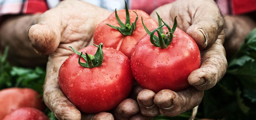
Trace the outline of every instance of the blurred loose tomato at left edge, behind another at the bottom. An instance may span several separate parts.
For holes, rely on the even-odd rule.
[[[30,88],[6,88],[0,91],[0,120],[21,107],[33,107],[43,111],[45,104],[39,94]]]

